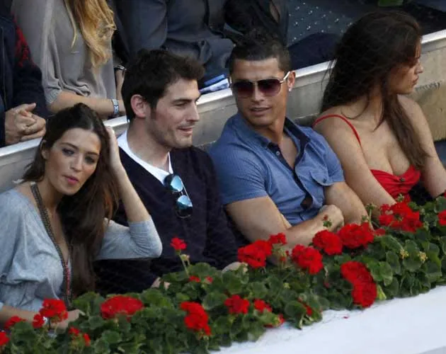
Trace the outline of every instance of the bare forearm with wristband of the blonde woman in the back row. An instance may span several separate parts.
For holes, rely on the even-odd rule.
[[[120,105],[120,113],[124,111],[122,101],[118,101]],[[93,98],[76,95],[75,93],[62,91],[53,103],[50,104],[52,113],[57,113],[64,108],[72,107],[76,103],[84,103],[98,115],[108,118],[113,115],[113,103],[110,98]]]

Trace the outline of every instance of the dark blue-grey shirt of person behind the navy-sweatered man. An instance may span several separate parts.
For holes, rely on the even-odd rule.
[[[223,38],[226,0],[113,0],[130,57],[142,48],[190,56],[207,72],[226,67],[233,43]]]

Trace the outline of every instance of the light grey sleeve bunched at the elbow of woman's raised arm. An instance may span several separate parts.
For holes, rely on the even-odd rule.
[[[96,260],[156,258],[161,251],[161,240],[151,218],[130,222],[128,227],[111,220]]]

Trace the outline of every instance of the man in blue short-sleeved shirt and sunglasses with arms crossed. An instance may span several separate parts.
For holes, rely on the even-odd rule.
[[[222,202],[249,241],[284,232],[290,246],[366,215],[321,135],[285,117],[295,83],[280,41],[251,33],[229,59],[239,113],[210,149]]]

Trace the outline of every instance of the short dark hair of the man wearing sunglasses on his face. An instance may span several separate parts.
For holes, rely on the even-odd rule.
[[[270,35],[259,28],[254,28],[247,33],[234,47],[229,57],[229,73],[234,72],[234,62],[241,60],[278,59],[280,70],[289,72],[291,67],[290,52],[282,41],[274,35]]]

